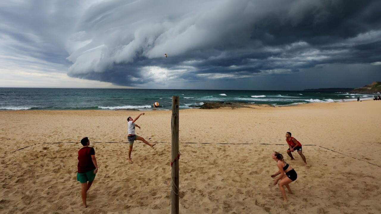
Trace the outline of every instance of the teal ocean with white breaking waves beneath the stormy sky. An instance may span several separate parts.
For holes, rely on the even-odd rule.
[[[180,89],[0,88],[0,110],[171,110],[172,96],[180,109],[204,102],[240,102],[275,106],[312,102],[373,99],[374,94],[312,91],[243,91]],[[160,107],[154,108],[154,102]]]

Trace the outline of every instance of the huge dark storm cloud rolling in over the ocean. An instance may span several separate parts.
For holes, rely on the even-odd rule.
[[[89,43],[68,57],[69,75],[139,85],[155,81],[157,68],[186,66],[176,77],[197,81],[377,62],[380,8],[358,0],[103,2],[78,22]]]

